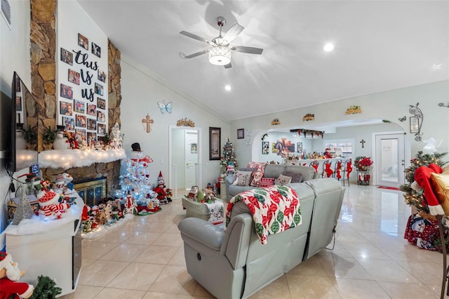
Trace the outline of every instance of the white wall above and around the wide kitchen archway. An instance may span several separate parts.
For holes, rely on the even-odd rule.
[[[300,127],[302,125],[302,117],[307,113],[315,115],[315,120],[313,122],[307,122],[308,126],[311,124],[316,124],[317,126],[331,124],[333,122],[348,119],[380,118],[396,123],[407,133],[411,145],[411,155],[412,157],[415,157],[417,151],[422,150],[424,143],[415,141],[414,134],[410,134],[408,118],[412,116],[412,114],[408,112],[408,109],[410,108],[410,105],[416,105],[416,103],[419,102],[419,107],[424,114],[422,139],[441,139],[443,140],[443,143],[441,147],[439,147],[438,152],[448,152],[449,109],[447,107],[438,107],[439,102],[448,103],[448,100],[449,81],[440,81],[409,88],[401,88],[394,91],[361,95],[354,98],[328,102],[326,104],[313,105],[310,107],[291,109],[288,111],[232,121],[231,139],[236,149],[239,163],[245,165],[248,161],[251,161],[252,157],[257,157],[258,151],[254,150],[254,147],[247,147],[243,139],[236,138],[236,130],[238,128],[253,130],[252,142],[260,142],[262,135],[266,133],[267,130],[273,128],[273,126],[271,126],[271,121],[274,118],[281,121],[281,124],[278,126],[279,128]],[[361,114],[346,115],[344,112],[351,105],[361,106],[363,112]],[[406,121],[398,121],[398,119],[404,116],[407,117]],[[362,137],[362,135],[359,137]],[[328,138],[328,135],[325,134],[325,138]],[[366,136],[363,135],[363,139],[365,138]],[[365,140],[371,140],[371,135],[369,134],[368,139]],[[370,149],[364,149],[364,151],[367,150]],[[364,151],[362,152],[360,149],[356,148],[355,156],[362,155]]]

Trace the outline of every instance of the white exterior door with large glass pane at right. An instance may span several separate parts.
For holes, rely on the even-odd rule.
[[[375,138],[376,185],[398,188],[405,181],[405,135],[379,134]]]

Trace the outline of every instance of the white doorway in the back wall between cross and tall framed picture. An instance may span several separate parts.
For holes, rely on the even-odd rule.
[[[170,126],[168,142],[168,183],[178,198],[202,178],[201,128]]]

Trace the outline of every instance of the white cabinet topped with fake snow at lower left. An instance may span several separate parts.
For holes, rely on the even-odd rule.
[[[60,295],[76,290],[81,272],[81,211],[83,202],[76,201],[71,215],[60,220],[22,220],[6,227],[6,253],[11,254],[25,275],[20,281],[37,285],[40,275],[55,280],[62,288]]]

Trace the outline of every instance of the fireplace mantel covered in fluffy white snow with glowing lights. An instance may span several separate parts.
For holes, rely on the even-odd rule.
[[[39,168],[63,168],[90,166],[126,158],[120,150],[45,150],[39,153]]]

